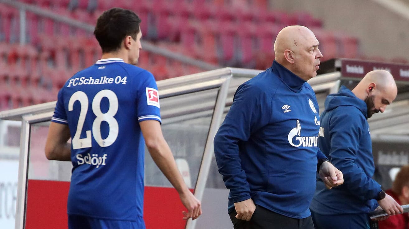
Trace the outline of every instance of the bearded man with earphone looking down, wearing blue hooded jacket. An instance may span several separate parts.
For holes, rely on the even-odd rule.
[[[374,70],[352,91],[342,86],[338,93],[326,98],[318,146],[342,171],[344,185],[328,190],[317,179],[310,205],[315,229],[369,229],[368,213],[378,206],[388,215],[403,212],[398,202],[372,179],[375,166],[367,121],[374,113],[383,113],[397,91],[391,73]]]

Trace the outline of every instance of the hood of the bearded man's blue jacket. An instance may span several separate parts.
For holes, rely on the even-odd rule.
[[[338,93],[328,95],[325,100],[326,111],[330,111],[339,106],[354,106],[368,119],[368,108],[366,107],[365,101],[356,97],[355,94],[344,85],[341,86]]]

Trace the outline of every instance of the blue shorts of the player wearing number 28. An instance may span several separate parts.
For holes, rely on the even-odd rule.
[[[68,214],[69,229],[146,229],[142,217],[135,217],[135,221],[106,220],[87,216]]]

